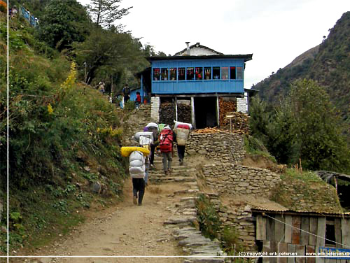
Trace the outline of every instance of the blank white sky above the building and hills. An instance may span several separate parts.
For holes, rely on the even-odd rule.
[[[253,53],[244,71],[250,88],[320,44],[350,1],[123,0],[121,6],[133,8],[117,23],[167,55],[186,48],[186,41],[225,55]]]

